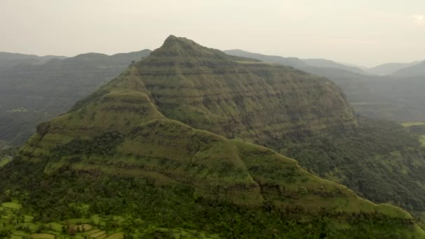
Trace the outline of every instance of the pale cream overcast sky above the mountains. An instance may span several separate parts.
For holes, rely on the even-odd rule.
[[[153,50],[173,34],[375,66],[425,59],[424,16],[425,0],[1,0],[0,51],[110,55]]]

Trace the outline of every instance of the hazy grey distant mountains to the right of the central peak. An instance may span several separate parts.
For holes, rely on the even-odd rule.
[[[244,51],[236,55],[275,64],[287,64],[279,57]],[[417,66],[417,72],[419,72],[421,65]],[[421,93],[425,85],[422,84],[424,80],[421,76],[368,75],[348,71],[345,68],[317,67],[307,64],[294,67],[336,82],[359,115],[401,122],[422,121],[425,117],[425,108],[422,103],[424,97]]]

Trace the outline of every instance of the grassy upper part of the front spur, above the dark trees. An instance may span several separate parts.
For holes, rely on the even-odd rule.
[[[52,178],[69,168],[89,175],[145,178],[157,187],[185,184],[193,189],[187,200],[267,205],[303,224],[326,213],[326,225],[338,235],[363,225],[353,219],[361,214],[382,224],[395,219],[395,234],[422,233],[407,212],[358,198],[272,150],[166,119],[135,70],[129,68],[70,113],[39,125],[22,148],[22,164],[45,164],[43,171]],[[387,231],[385,226],[368,229],[377,235]]]

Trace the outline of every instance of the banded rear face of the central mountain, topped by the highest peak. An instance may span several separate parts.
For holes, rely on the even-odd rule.
[[[233,61],[173,36],[136,66],[166,117],[227,138],[264,143],[356,126],[338,87],[294,68]]]

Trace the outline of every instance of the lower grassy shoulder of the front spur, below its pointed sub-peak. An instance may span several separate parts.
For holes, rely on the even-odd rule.
[[[190,194],[185,194],[185,200],[192,201],[195,205],[196,201],[205,201],[208,204],[231,203],[237,207],[252,208],[254,211],[273,208],[273,211],[286,215],[285,218],[304,226],[315,224],[315,220],[326,215],[329,219],[329,222],[326,221],[326,228],[332,232],[329,235],[339,238],[347,236],[347,233],[359,225],[366,226],[364,229],[368,231],[368,235],[424,235],[412,223],[412,217],[400,208],[375,205],[361,199],[347,187],[317,178],[301,169],[296,161],[273,150],[238,140],[228,140],[173,120],[154,119],[136,126],[128,136],[115,143],[116,151],[113,153],[103,154],[102,151],[89,148],[87,145],[92,144],[87,141],[81,143],[84,145],[82,150],[75,150],[78,149],[75,147],[78,140],[71,142],[71,147],[59,147],[54,150],[45,166],[49,168],[48,177],[52,177],[52,180],[58,177],[58,173],[66,174],[64,168],[69,168],[87,175],[101,173],[118,179],[143,178],[163,189],[187,185],[186,187],[192,190]],[[60,167],[51,166],[58,161],[62,164]],[[63,184],[66,180],[59,182]],[[55,187],[55,183],[48,185],[52,188],[50,190],[61,191],[66,188]],[[98,187],[105,186],[98,184]],[[68,188],[73,189],[73,186]],[[94,193],[92,190],[89,192]],[[80,197],[84,198],[86,193],[80,194]],[[33,200],[38,202],[43,200],[43,197],[45,196],[38,194],[37,199]],[[72,199],[72,194],[70,197]],[[63,200],[60,198],[62,197],[59,196],[58,202]],[[128,198],[131,201],[131,196]],[[171,196],[168,203],[175,203],[173,198],[175,196]],[[143,203],[143,199],[139,200]],[[55,203],[57,206],[60,204]],[[52,207],[51,204],[45,205]],[[158,205],[156,210],[162,210],[161,207],[164,206],[166,207]],[[199,204],[197,206],[199,207]],[[42,206],[38,203],[38,207]],[[191,209],[184,210],[189,210],[190,213]],[[366,222],[357,218],[358,215],[368,218],[366,225]],[[157,216],[151,217],[146,216],[143,219],[157,222]],[[385,226],[389,224],[392,225],[391,231]],[[207,232],[216,233],[214,228]]]

